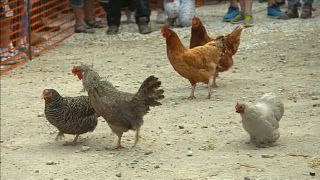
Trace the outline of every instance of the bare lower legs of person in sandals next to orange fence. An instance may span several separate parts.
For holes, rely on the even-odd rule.
[[[70,0],[75,15],[76,33],[94,33],[93,28],[103,28],[101,22],[95,20],[94,0]]]

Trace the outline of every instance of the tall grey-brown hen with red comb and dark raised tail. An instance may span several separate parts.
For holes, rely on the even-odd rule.
[[[98,73],[86,65],[75,66],[72,73],[82,80],[91,105],[106,119],[111,130],[118,136],[115,149],[122,147],[122,134],[128,130],[136,131],[135,146],[139,140],[143,116],[150,107],[160,106],[159,100],[164,98],[164,90],[159,89],[161,81],[149,76],[138,92],[132,94],[119,91],[110,82],[102,81]]]

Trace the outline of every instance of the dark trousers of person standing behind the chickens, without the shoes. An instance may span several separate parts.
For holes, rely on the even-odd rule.
[[[121,8],[134,1],[136,8],[136,23],[139,25],[143,19],[144,23],[149,23],[151,14],[151,0],[110,0],[108,3],[101,2],[101,6],[107,12],[108,26],[120,26]]]

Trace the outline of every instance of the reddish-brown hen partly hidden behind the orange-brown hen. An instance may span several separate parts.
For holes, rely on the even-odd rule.
[[[206,28],[203,26],[199,17],[195,16],[192,19],[190,48],[203,46],[209,41],[215,41],[218,44],[222,44],[222,55],[219,66],[217,68],[217,72],[227,71],[233,65],[232,56],[237,52],[239,48],[242,29],[243,28],[238,26],[226,36],[218,36],[217,38],[212,38],[208,35]]]

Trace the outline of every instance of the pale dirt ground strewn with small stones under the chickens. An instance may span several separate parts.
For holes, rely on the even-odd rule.
[[[227,6],[197,9],[212,36],[235,27],[221,22]],[[320,3],[308,20],[270,19],[265,7],[254,4],[255,26],[243,32],[234,66],[220,74],[211,100],[202,84],[197,99],[184,99],[190,85],[169,64],[156,12],[149,35],[126,23],[117,36],[106,36],[105,29],[74,35],[1,76],[1,179],[320,179]],[[190,28],[175,31],[188,45]],[[116,136],[102,118],[78,146],[62,145],[72,135],[54,141],[57,130],[43,116],[42,90],[85,94],[71,74],[82,62],[124,91],[137,91],[152,74],[162,81],[166,98],[145,116],[137,147],[131,148],[129,132],[125,148],[111,150]],[[279,95],[285,114],[276,146],[261,149],[247,143],[234,105],[266,92]]]

